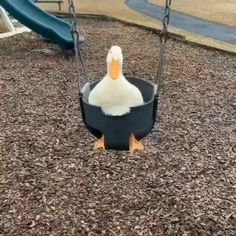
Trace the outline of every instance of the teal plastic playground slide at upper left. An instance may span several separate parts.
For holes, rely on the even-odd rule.
[[[62,49],[73,48],[71,25],[56,16],[43,11],[33,0],[0,0],[0,5],[20,23],[57,43]],[[80,37],[80,42],[84,38]]]

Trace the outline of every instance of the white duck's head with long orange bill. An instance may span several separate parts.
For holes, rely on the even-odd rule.
[[[107,54],[107,75],[116,80],[122,76],[123,55],[119,46],[112,46]]]

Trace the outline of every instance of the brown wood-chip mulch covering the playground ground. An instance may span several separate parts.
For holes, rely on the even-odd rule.
[[[83,19],[91,80],[111,45],[154,80],[158,36]],[[0,40],[0,235],[235,235],[235,56],[168,41],[145,150],[93,151],[74,57],[34,33]]]

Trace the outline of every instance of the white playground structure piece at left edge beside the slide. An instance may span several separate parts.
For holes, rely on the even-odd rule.
[[[31,30],[27,27],[15,27],[14,23],[16,20],[13,20],[9,17],[7,12],[0,6],[0,16],[3,19],[3,23],[5,24],[6,28],[8,29],[8,32],[6,33],[1,33],[0,38],[6,38],[13,36],[15,34],[20,34],[24,32],[30,32]]]

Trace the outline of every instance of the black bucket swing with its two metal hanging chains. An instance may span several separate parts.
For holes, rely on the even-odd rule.
[[[73,0],[69,0],[70,12],[74,11]],[[72,34],[74,39],[74,50],[77,63],[77,79],[79,89],[79,100],[83,122],[86,128],[98,139],[102,139],[105,149],[129,150],[130,136],[134,135],[136,140],[141,140],[151,132],[158,109],[158,98],[160,92],[161,75],[163,71],[164,47],[167,41],[167,26],[170,17],[171,0],[166,0],[163,30],[160,33],[160,54],[159,65],[156,77],[156,83],[148,82],[136,77],[125,76],[125,78],[134,84],[142,93],[144,104],[131,107],[128,114],[122,116],[110,116],[103,113],[101,107],[89,104],[88,97],[90,91],[99,81],[89,83],[83,62],[83,57],[79,44],[79,32],[76,24],[76,14],[71,12],[72,17]],[[81,63],[86,84],[81,89],[79,78],[79,63]]]

